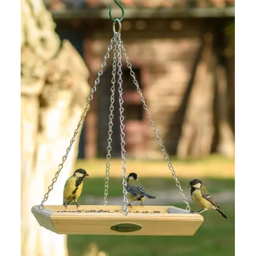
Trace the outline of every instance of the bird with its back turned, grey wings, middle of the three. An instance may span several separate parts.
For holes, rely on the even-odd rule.
[[[141,185],[141,182],[138,180],[138,175],[134,172],[130,173],[127,178],[127,198],[131,201],[128,206],[132,207],[132,202],[141,201],[141,206],[146,198],[155,199],[154,196],[146,194],[144,187]]]

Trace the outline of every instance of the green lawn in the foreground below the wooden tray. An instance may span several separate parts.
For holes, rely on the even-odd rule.
[[[225,205],[230,220],[217,212],[204,214],[205,221],[193,237],[69,236],[71,256],[82,256],[90,243],[110,256],[234,256],[235,206]]]

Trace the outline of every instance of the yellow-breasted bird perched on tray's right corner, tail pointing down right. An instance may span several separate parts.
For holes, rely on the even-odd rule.
[[[216,201],[212,198],[207,188],[203,186],[202,181],[194,179],[190,181],[190,185],[188,187],[191,188],[191,198],[194,201],[194,203],[197,204],[199,207],[203,208],[197,213],[202,213],[207,210],[216,210],[221,213],[223,218],[228,219],[225,213],[221,211],[221,208],[218,206]]]

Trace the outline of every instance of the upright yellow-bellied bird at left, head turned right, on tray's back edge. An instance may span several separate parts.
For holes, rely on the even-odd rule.
[[[83,181],[86,176],[89,176],[84,169],[77,169],[74,174],[66,180],[63,191],[63,205],[67,208],[68,205],[75,202],[76,207],[79,207],[77,199],[82,193]]]

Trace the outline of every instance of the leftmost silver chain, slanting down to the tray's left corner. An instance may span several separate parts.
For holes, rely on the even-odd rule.
[[[81,118],[80,118],[80,121],[79,121],[79,123],[78,123],[78,125],[77,125],[77,128],[75,129],[74,136],[73,136],[73,138],[72,138],[71,141],[70,141],[70,145],[69,145],[68,148],[66,149],[66,154],[62,157],[62,163],[61,163],[61,164],[59,165],[59,167],[58,167],[58,171],[56,172],[55,177],[53,178],[52,184],[49,185],[49,187],[48,187],[48,192],[44,195],[44,199],[43,199],[42,203],[39,205],[39,209],[40,209],[40,210],[43,210],[43,209],[44,209],[44,203],[47,201],[47,199],[48,199],[48,197],[49,197],[49,193],[53,190],[53,185],[54,185],[54,183],[57,181],[57,178],[58,178],[58,176],[59,176],[59,174],[60,174],[60,172],[61,172],[61,170],[62,170],[62,168],[63,168],[63,166],[64,166],[64,163],[66,162],[66,159],[67,159],[68,154],[69,154],[69,152],[70,152],[70,150],[71,150],[71,148],[72,148],[72,145],[73,145],[73,143],[75,142],[75,137],[76,137],[76,135],[77,135],[78,132],[79,132],[79,128],[80,128],[80,126],[83,124],[83,120],[84,120],[84,118],[85,118],[85,116],[86,116],[86,113],[87,113],[89,107],[90,107],[90,103],[91,103],[91,101],[93,100],[93,94],[96,92],[96,90],[97,90],[97,85],[100,83],[100,77],[101,77],[102,74],[103,74],[103,69],[106,67],[106,62],[107,62],[107,60],[108,60],[108,58],[109,58],[109,56],[110,56],[110,51],[113,49],[114,41],[115,41],[115,38],[113,37],[113,38],[111,39],[110,46],[109,46],[108,49],[107,49],[107,53],[106,53],[106,55],[105,55],[105,57],[104,57],[104,62],[102,63],[101,70],[99,71],[98,77],[97,77],[97,79],[95,80],[94,87],[92,88],[91,94],[90,94],[90,96],[88,97],[88,103],[87,103],[87,105],[85,106],[84,112],[83,112],[83,114],[81,115]]]

